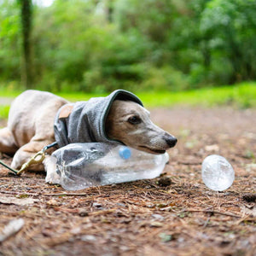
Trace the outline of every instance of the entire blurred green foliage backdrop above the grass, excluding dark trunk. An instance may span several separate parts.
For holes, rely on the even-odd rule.
[[[255,80],[255,17],[254,0],[55,0],[47,8],[35,5],[34,88],[178,91]],[[18,1],[0,1],[0,27],[0,82],[20,90]]]

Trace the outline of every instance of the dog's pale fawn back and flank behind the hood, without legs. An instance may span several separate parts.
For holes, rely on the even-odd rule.
[[[55,114],[67,101],[52,93],[26,90],[15,98],[9,110],[8,129],[18,148],[38,138],[53,137]]]

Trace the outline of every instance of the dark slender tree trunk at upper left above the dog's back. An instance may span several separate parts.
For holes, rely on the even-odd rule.
[[[32,0],[19,0],[21,16],[21,36],[22,36],[22,70],[21,80],[26,89],[32,87]]]

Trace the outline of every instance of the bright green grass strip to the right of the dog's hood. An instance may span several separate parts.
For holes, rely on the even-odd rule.
[[[137,94],[145,106],[172,107],[201,106],[233,106],[235,108],[256,108],[256,83],[243,83],[232,86],[204,88],[181,92],[147,92]]]

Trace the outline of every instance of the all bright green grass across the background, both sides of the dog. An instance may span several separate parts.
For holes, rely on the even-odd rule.
[[[14,98],[19,91],[0,90],[0,97]],[[93,96],[107,96],[107,94],[85,93],[59,93],[71,102],[87,101]],[[188,106],[209,108],[214,106],[232,106],[235,108],[256,108],[256,82],[235,84],[232,86],[212,87],[189,91],[157,91],[140,92],[141,98],[147,108]],[[0,119],[8,117],[9,106],[0,103]]]

